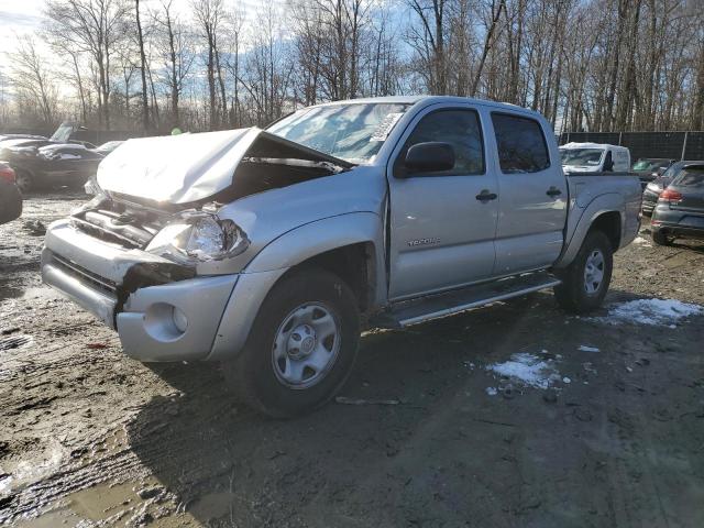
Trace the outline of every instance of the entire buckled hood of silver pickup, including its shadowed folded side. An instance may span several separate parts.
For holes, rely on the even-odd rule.
[[[238,170],[241,164],[250,165],[249,170]],[[231,200],[352,167],[352,163],[251,128],[129,140],[100,163],[98,184],[111,193],[185,205],[226,189]]]

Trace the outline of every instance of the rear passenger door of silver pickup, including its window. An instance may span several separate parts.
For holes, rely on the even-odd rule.
[[[494,275],[550,266],[560,255],[568,188],[557,150],[551,153],[544,120],[492,112],[498,155],[499,213]]]

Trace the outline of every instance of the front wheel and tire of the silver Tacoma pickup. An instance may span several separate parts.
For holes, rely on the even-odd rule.
[[[360,314],[349,286],[323,270],[295,272],[272,288],[244,349],[223,372],[250,407],[274,418],[300,416],[342,387],[359,341]]]

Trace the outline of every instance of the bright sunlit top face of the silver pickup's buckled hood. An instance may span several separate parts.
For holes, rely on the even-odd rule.
[[[251,128],[129,140],[100,163],[98,185],[157,202],[202,200],[232,183],[261,133]]]

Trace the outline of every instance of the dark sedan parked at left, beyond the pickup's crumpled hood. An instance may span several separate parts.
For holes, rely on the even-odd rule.
[[[29,190],[67,186],[81,188],[98,170],[103,154],[81,144],[51,144],[11,148],[8,162],[16,173],[18,187]]]

